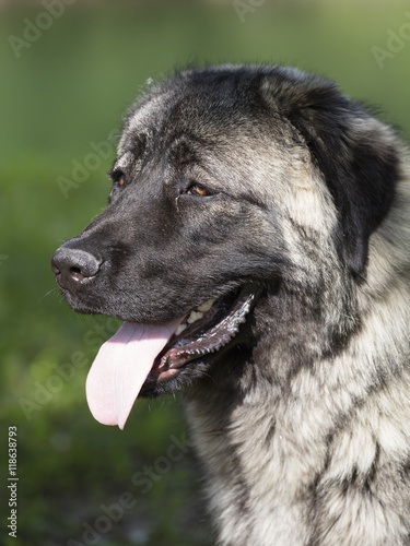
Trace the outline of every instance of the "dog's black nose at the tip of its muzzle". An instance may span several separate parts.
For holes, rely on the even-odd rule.
[[[77,248],[60,247],[51,260],[51,270],[62,288],[75,289],[84,281],[95,276],[102,260]]]

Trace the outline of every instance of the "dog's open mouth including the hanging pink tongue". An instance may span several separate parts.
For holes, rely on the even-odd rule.
[[[175,378],[188,363],[206,359],[236,340],[261,288],[245,285],[210,299],[165,324],[124,322],[99,348],[86,379],[93,416],[124,428],[142,388]]]

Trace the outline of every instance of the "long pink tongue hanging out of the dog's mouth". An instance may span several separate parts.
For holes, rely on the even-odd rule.
[[[86,378],[86,400],[103,425],[124,428],[156,355],[181,319],[162,325],[124,322],[98,351]]]

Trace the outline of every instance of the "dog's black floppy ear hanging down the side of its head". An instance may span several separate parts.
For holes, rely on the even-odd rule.
[[[395,135],[328,80],[284,75],[272,90],[277,107],[325,177],[338,211],[338,253],[353,275],[362,276],[368,238],[386,216],[398,179]]]

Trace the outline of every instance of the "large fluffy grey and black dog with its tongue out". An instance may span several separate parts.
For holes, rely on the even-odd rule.
[[[125,322],[94,417],[184,391],[223,546],[410,545],[410,169],[325,78],[190,68],[130,108],[108,206],[52,259]]]

